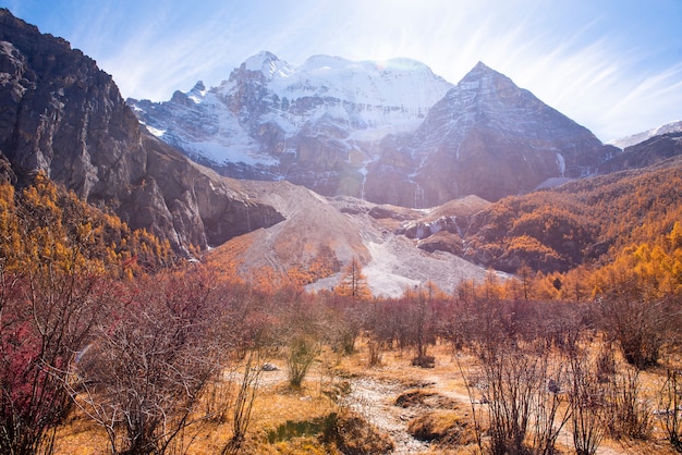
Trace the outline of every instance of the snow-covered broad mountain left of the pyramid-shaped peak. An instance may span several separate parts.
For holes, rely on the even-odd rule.
[[[314,56],[292,65],[264,51],[218,87],[199,82],[168,102],[131,104],[147,128],[195,159],[267,167],[268,179],[289,179],[291,167],[273,163],[296,157],[329,164],[352,150],[361,162],[372,160],[361,143],[414,131],[451,87],[410,59]],[[310,134],[324,137],[321,144],[313,148]]]

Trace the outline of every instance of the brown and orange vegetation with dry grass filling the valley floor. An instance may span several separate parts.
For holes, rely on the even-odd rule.
[[[0,195],[3,452],[679,450],[674,218],[590,267],[521,265],[454,295],[429,282],[391,299],[368,294],[355,261],[317,294],[299,272],[264,270],[255,286],[171,269],[168,245],[40,175]],[[519,242],[540,242],[537,220],[555,230],[538,213],[512,223]],[[391,425],[365,408],[377,390]]]

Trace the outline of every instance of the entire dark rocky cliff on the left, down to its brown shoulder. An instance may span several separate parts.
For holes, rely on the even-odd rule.
[[[8,179],[42,171],[179,250],[283,218],[236,182],[139,130],[111,77],[63,39],[0,10],[0,153]],[[245,221],[247,220],[247,221]]]

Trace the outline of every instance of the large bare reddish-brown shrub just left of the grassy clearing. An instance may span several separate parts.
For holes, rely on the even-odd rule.
[[[204,386],[221,367],[209,343],[208,278],[196,273],[136,283],[74,372],[83,384],[74,398],[113,454],[165,453],[202,414]]]

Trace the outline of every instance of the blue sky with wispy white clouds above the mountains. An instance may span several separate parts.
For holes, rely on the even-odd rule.
[[[419,60],[456,84],[477,61],[602,142],[682,119],[682,0],[0,0],[65,38],[124,97],[211,87],[269,50]]]

